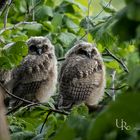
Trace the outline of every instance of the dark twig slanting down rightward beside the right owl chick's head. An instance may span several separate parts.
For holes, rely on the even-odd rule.
[[[113,53],[111,53],[107,48],[105,48],[105,50],[107,53],[102,54],[103,56],[111,56],[123,67],[125,72],[129,73],[127,66],[125,65],[125,63],[121,59],[117,58],[117,56],[115,56]]]

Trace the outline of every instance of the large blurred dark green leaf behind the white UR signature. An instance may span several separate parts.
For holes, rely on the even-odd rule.
[[[134,131],[134,128],[140,124],[139,100],[139,93],[121,94],[115,102],[112,102],[106,110],[92,121],[87,140],[105,139],[106,135],[112,131],[119,131],[123,134],[125,134],[126,131],[127,133]],[[125,128],[124,131],[121,130],[120,123],[122,119],[126,122],[127,126],[129,126],[130,130],[126,130]],[[119,121],[119,128],[116,125],[116,120]],[[116,134],[114,134],[114,137],[115,135]]]

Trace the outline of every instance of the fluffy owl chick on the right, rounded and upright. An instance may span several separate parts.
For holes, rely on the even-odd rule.
[[[105,67],[102,57],[91,43],[81,42],[71,48],[59,75],[58,108],[71,108],[85,102],[97,105],[104,95]]]

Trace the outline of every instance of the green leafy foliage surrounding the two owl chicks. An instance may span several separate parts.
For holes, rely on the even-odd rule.
[[[27,54],[26,40],[41,35],[55,45],[58,60],[80,40],[96,42],[107,71],[102,110],[89,113],[82,104],[69,115],[52,111],[41,131],[50,108],[54,109],[54,97],[46,105],[20,108],[8,115],[11,138],[140,139],[139,0],[13,0],[6,5],[0,11],[1,69],[19,65]],[[129,130],[121,127],[122,120]]]

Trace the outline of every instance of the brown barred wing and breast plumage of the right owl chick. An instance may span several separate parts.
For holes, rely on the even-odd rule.
[[[102,78],[102,62],[99,60],[71,59],[65,61],[61,68],[60,106],[69,106],[86,100]]]

